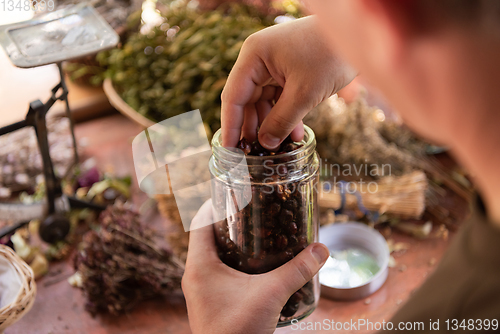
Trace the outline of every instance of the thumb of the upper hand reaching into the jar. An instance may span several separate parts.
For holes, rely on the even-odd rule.
[[[304,116],[321,102],[316,100],[315,94],[311,94],[307,88],[287,82],[278,101],[262,121],[260,144],[268,150],[277,148]]]

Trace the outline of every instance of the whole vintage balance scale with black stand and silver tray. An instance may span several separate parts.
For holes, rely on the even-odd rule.
[[[0,218],[16,222],[0,230],[0,238],[26,225],[32,219],[43,218],[39,234],[42,240],[53,243],[66,237],[70,229],[64,212],[71,208],[104,207],[64,195],[61,182],[54,173],[47,138],[46,115],[56,101],[64,101],[70,120],[74,159],[78,163],[73,121],[68,103],[68,88],[61,63],[65,60],[95,54],[113,48],[119,37],[109,24],[87,4],[67,7],[40,15],[29,21],[0,26],[0,45],[11,62],[21,68],[57,64],[60,82],[52,88],[47,102],[30,103],[24,120],[0,128],[0,136],[25,127],[33,127],[42,156],[46,201],[34,204],[0,203]]]

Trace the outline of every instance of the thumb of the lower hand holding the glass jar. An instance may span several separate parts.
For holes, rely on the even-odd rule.
[[[268,286],[271,293],[283,303],[297,290],[309,282],[330,256],[328,248],[320,243],[309,245],[295,258],[281,267],[269,272],[266,280],[272,282]]]

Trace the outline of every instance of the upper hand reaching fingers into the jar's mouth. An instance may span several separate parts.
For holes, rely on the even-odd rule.
[[[222,92],[222,143],[257,137],[275,149],[291,133],[300,141],[302,118],[335,94],[356,72],[333,55],[315,17],[282,23],[243,44]]]

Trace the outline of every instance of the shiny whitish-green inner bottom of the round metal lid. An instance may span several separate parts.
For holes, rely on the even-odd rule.
[[[377,260],[364,249],[331,251],[319,281],[332,288],[355,288],[370,281],[379,270]]]

